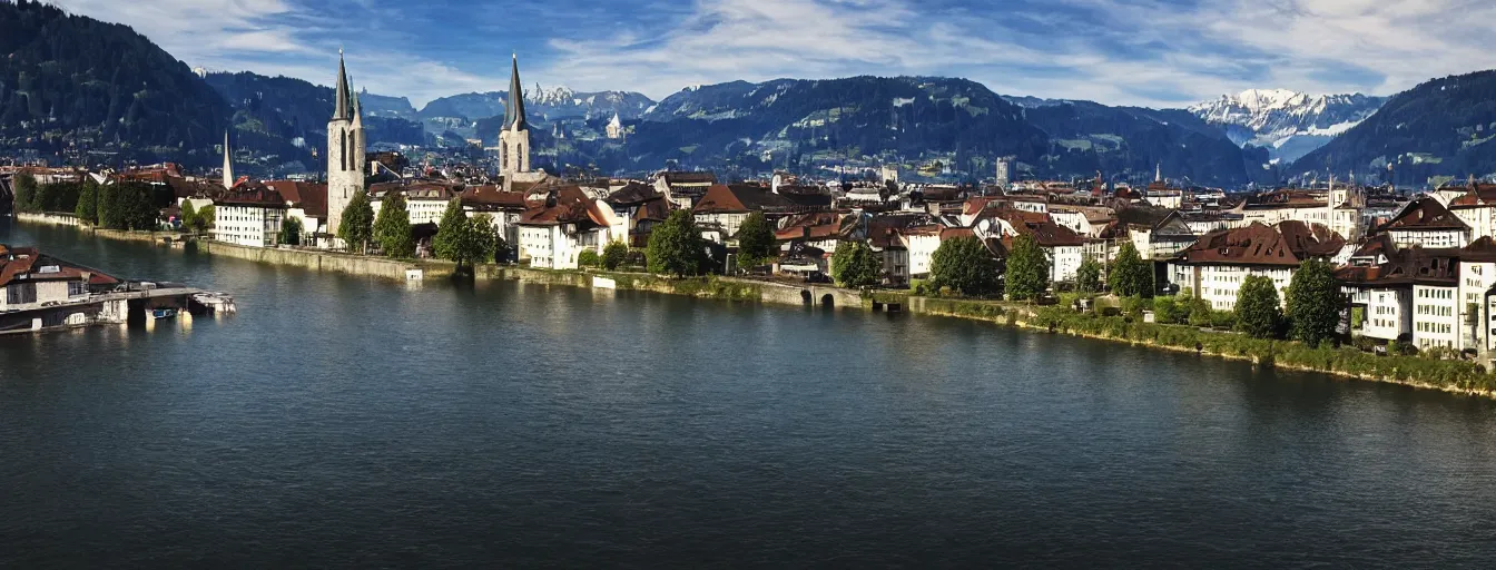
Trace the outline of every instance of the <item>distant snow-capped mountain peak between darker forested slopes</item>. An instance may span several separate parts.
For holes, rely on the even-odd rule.
[[[1269,157],[1287,165],[1360,124],[1385,102],[1387,97],[1360,93],[1310,96],[1290,90],[1246,90],[1194,105],[1189,112],[1225,127],[1236,144],[1267,148]]]

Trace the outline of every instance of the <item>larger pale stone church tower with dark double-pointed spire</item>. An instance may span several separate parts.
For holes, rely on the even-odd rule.
[[[349,72],[338,49],[338,85],[328,121],[328,235],[338,235],[343,209],[364,191],[368,162],[364,159],[364,117],[359,99],[349,88]]]

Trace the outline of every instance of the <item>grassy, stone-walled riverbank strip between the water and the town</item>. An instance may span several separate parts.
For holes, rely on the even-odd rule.
[[[97,230],[66,217],[21,214],[19,221],[73,226],[100,238],[153,244],[183,244],[183,250],[244,259],[257,263],[298,266],[347,275],[390,280],[441,280],[455,274],[455,265],[443,260],[393,260],[371,256],[299,248],[256,248],[217,241],[193,241],[178,233]],[[1194,352],[1201,356],[1249,361],[1263,367],[1330,374],[1342,379],[1396,383],[1451,393],[1496,398],[1496,376],[1471,362],[1435,361],[1418,356],[1376,356],[1357,349],[1310,349],[1291,341],[1254,340],[1219,331],[1204,331],[1183,325],[1132,322],[1122,316],[1076,313],[1058,307],[914,296],[904,292],[863,293],[824,284],[790,284],[732,277],[700,277],[672,280],[649,274],[607,271],[552,271],[513,265],[483,265],[474,271],[477,280],[513,280],[536,284],[557,284],[582,289],[642,290],[730,302],[760,302],[775,305],[809,305],[824,310],[881,310],[926,316],[972,319],[1031,331],[1065,334],[1092,340],[1128,343],[1171,352]]]

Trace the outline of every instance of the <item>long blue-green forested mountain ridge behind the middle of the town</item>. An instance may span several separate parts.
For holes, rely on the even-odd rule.
[[[1228,186],[1260,180],[1267,160],[1185,111],[1004,97],[953,78],[871,76],[691,87],[645,114],[628,153],[700,166],[787,154],[773,159],[782,166],[844,153],[939,160],[974,177],[1001,156],[1035,177],[1101,171],[1150,180],[1162,163],[1170,177]]]

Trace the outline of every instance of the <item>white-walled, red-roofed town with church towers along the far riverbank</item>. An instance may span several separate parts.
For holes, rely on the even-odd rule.
[[[838,272],[838,250],[865,247],[872,277],[851,284],[917,292],[925,292],[947,241],[975,238],[998,272],[1022,241],[1044,253],[1043,298],[1076,290],[1088,263],[1113,266],[1134,250],[1152,277],[1150,290],[1140,295],[1191,295],[1213,311],[1234,310],[1254,275],[1270,278],[1287,299],[1299,268],[1321,260],[1336,268],[1348,299],[1343,328],[1352,337],[1483,361],[1496,352],[1496,184],[1471,178],[1406,196],[1328,177],[1313,187],[1227,194],[1179,187],[1161,168],[1146,187],[1115,186],[1100,174],[1088,181],[1011,181],[1001,162],[981,186],[901,183],[895,168],[829,181],[787,172],[726,181],[712,172],[670,171],[643,180],[561,178],[531,168],[530,123],[524,100],[513,96],[522,93],[519,81],[516,58],[509,90],[515,112],[488,150],[498,172],[367,153],[359,94],[340,64],[322,181],[235,177],[224,138],[223,168],[212,175],[194,177],[171,163],[123,172],[13,166],[0,172],[0,196],[16,194],[18,209],[72,211],[82,200],[76,191],[70,203],[27,208],[19,180],[93,186],[99,203],[118,189],[148,187],[148,196],[160,196],[157,209],[123,229],[196,224],[211,239],[242,247],[368,254],[399,253],[381,251],[367,236],[349,244],[341,226],[350,205],[367,203],[373,218],[399,202],[414,245],[404,254],[414,257],[440,254],[434,241],[455,209],[495,238],[495,253],[486,256],[492,259],[476,262],[542,269],[594,265],[609,245],[627,247],[637,259],[658,226],[685,215],[711,251],[714,272],[826,280]],[[747,226],[757,220],[769,224],[772,254],[739,263]]]

